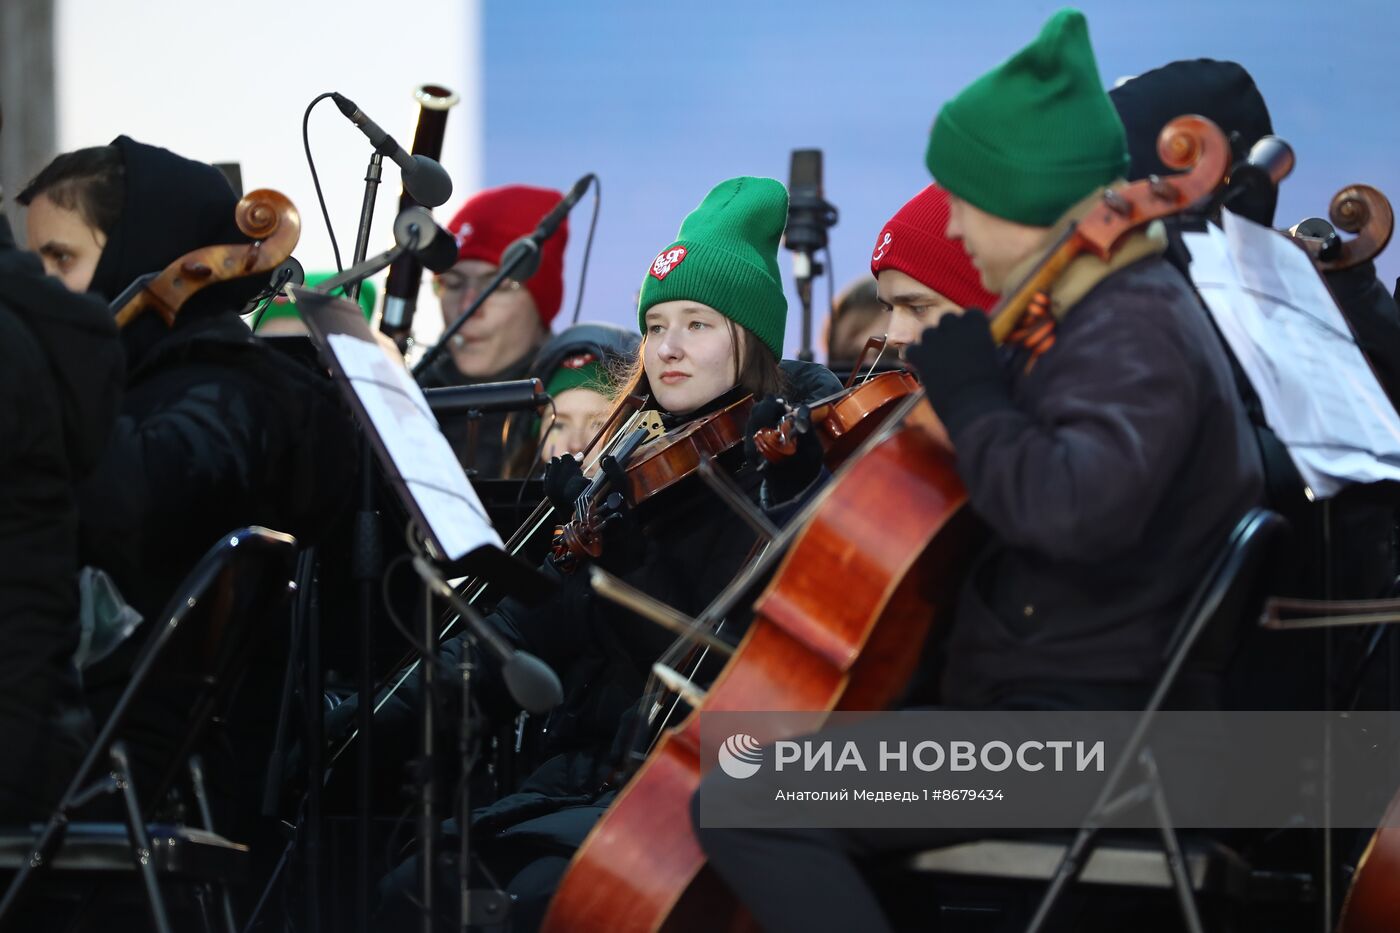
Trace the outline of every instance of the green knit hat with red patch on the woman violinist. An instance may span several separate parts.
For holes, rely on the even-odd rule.
[[[787,189],[780,182],[741,175],[715,185],[641,280],[637,326],[647,332],[647,308],[654,304],[699,301],[748,328],[781,359],[787,296],[778,277],[778,241],[784,226]]]

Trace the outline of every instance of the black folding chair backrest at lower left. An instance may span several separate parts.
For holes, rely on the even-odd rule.
[[[108,738],[129,737],[144,778],[146,803],[183,776],[186,758],[237,686],[244,667],[284,619],[297,541],[266,528],[220,538],[154,619],[122,698],[104,724]],[[111,733],[108,735],[108,733]]]

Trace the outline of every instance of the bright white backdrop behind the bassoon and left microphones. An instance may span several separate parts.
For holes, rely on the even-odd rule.
[[[244,191],[276,188],[301,210],[302,265],[333,269],[301,144],[307,104],[340,91],[409,148],[413,90],[456,91],[442,147],[454,195],[435,212],[445,221],[480,186],[480,20],[479,0],[57,0],[59,150],[126,133],[190,158],[241,163]],[[328,99],[311,115],[311,151],[349,265],[370,146]],[[386,160],[371,255],[392,242],[399,192]],[[430,294],[419,308],[423,340],[441,324]]]

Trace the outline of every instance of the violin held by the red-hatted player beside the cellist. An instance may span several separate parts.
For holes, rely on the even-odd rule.
[[[861,359],[869,350],[883,350],[885,338],[871,338]],[[858,368],[858,367],[857,367]],[[918,391],[918,378],[907,370],[878,373],[855,384],[855,371],[840,392],[829,395],[806,410],[794,409],[777,426],[763,427],[753,434],[753,445],[770,464],[797,452],[797,436],[816,431],[822,441],[823,459],[837,469],[879,427],[895,405]]]

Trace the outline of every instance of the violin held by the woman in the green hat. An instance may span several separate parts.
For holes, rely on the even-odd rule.
[[[598,474],[578,497],[574,517],[554,537],[556,563],[568,570],[580,558],[602,555],[602,528],[617,514],[623,502],[610,504],[605,496],[619,496],[629,506],[640,506],[657,493],[671,489],[700,469],[701,462],[714,459],[743,443],[753,396],[746,395],[713,415],[647,440],[624,438],[613,457],[623,464],[627,486],[610,490],[605,474]],[[634,436],[636,437],[636,436]],[[598,509],[602,504],[605,509]]]

